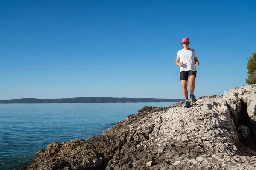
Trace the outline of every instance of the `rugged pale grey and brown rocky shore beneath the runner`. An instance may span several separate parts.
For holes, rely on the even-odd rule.
[[[100,136],[53,142],[23,170],[256,169],[256,85],[183,105],[143,107]]]

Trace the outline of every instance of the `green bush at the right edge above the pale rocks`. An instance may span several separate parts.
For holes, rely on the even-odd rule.
[[[256,50],[252,53],[252,56],[249,57],[248,63],[247,63],[247,69],[248,69],[248,78],[246,79],[246,83],[256,84]]]

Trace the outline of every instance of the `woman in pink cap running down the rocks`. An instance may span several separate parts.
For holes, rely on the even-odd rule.
[[[176,57],[175,64],[180,66],[180,82],[182,85],[183,95],[185,97],[185,108],[189,108],[189,97],[188,97],[188,79],[190,88],[190,98],[192,102],[195,102],[195,77],[196,77],[196,66],[199,65],[198,59],[194,49],[189,48],[189,38],[185,37],[181,40],[182,50],[179,50]]]

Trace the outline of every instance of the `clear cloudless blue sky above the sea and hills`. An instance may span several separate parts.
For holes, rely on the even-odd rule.
[[[247,85],[255,0],[0,0],[0,99],[183,99],[181,39],[195,95]]]

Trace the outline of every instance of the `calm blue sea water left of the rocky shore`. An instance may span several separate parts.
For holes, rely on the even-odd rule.
[[[101,135],[143,106],[171,104],[0,104],[0,170],[24,166],[52,142]]]

